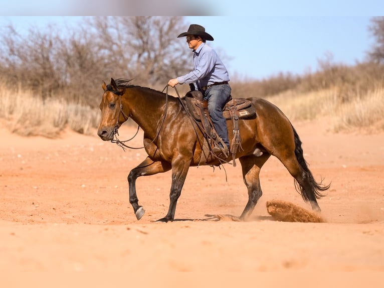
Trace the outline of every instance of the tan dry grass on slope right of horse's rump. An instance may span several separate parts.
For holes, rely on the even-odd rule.
[[[313,120],[320,117],[334,119],[333,131],[384,131],[384,88],[364,95],[339,88],[308,93],[285,92],[267,98],[291,120]]]

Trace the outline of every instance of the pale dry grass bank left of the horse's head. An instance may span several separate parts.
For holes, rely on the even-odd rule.
[[[100,118],[100,112],[88,106],[5,87],[0,87],[0,104],[0,118],[10,131],[24,136],[56,137],[66,127],[89,134]]]

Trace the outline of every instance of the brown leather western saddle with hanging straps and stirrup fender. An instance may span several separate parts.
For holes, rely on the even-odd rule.
[[[208,112],[208,101],[203,100],[203,94],[200,91],[189,91],[185,97],[186,107],[195,121],[201,122],[199,125],[204,131],[204,147],[200,164],[208,162],[207,152],[212,151],[212,147],[220,142],[225,147],[222,139],[217,134],[211,116]],[[235,156],[240,146],[239,119],[256,117],[256,109],[251,101],[244,98],[236,98],[228,101],[223,108],[223,116],[226,120],[233,120],[233,138],[230,143],[230,152],[232,154],[233,166],[236,167]],[[208,145],[208,142],[210,144]],[[223,152],[224,153],[224,152]],[[204,156],[204,157],[203,157]]]

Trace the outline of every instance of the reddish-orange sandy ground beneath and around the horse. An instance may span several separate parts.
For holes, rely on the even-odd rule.
[[[248,195],[239,165],[190,168],[171,223],[152,222],[167,212],[170,172],[139,178],[146,212],[137,221],[126,178],[145,158],[143,150],[124,152],[69,131],[47,139],[0,128],[0,286],[127,286],[135,280],[151,287],[287,286],[290,279],[316,286],[346,271],[353,273],[333,283],[381,286],[384,133],[334,134],[321,121],[293,124],[315,178],[332,182],[319,200],[326,223],[278,222],[267,213],[266,201],[273,199],[310,209],[275,158],[262,170],[264,194],[250,221],[205,216],[241,214]],[[122,127],[120,139],[134,131]],[[141,145],[139,134],[132,146]],[[283,277],[255,276],[261,271]]]

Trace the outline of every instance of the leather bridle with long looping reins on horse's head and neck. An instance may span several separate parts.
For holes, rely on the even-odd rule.
[[[167,114],[167,110],[168,110],[168,85],[166,85],[164,87],[164,89],[161,91],[161,92],[164,92],[164,90],[166,89],[166,93],[165,93],[165,111],[164,111],[164,116],[163,116],[163,119],[161,121],[161,124],[160,126],[157,128],[157,132],[156,132],[156,136],[153,138],[153,140],[148,143],[147,145],[144,145],[143,147],[131,147],[131,146],[128,146],[126,145],[125,143],[126,142],[129,142],[131,141],[134,137],[136,137],[137,133],[139,132],[139,129],[140,129],[140,126],[137,125],[137,130],[136,130],[136,133],[131,137],[129,138],[128,140],[124,140],[124,141],[121,141],[117,136],[119,135],[119,119],[120,119],[120,116],[123,115],[124,117],[124,122],[126,120],[129,119],[129,115],[125,114],[124,111],[123,111],[123,104],[121,102],[121,96],[124,94],[122,91],[115,91],[115,90],[111,90],[111,89],[106,89],[104,92],[106,92],[107,90],[118,95],[119,96],[119,107],[120,107],[120,111],[119,111],[119,116],[117,117],[117,120],[116,120],[116,124],[115,124],[115,127],[113,128],[113,139],[111,140],[111,143],[116,143],[117,146],[121,147],[124,151],[126,148],[129,148],[129,149],[143,149],[143,148],[146,148],[147,146],[151,145],[158,137],[159,133],[160,133],[160,130],[161,130],[161,127],[165,121],[165,117],[166,117],[166,114]]]

